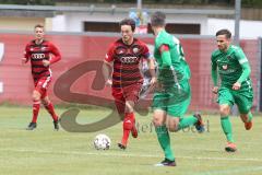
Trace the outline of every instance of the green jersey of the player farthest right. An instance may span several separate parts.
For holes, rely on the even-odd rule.
[[[213,51],[211,61],[212,78],[215,85],[217,85],[217,82],[213,72],[215,74],[218,72],[223,86],[231,88],[236,82],[242,83],[242,85],[250,84],[249,62],[240,47],[230,45],[226,52],[217,49]]]

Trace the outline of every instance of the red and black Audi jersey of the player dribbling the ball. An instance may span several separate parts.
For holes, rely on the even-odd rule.
[[[140,62],[148,57],[148,47],[136,38],[131,45],[126,45],[122,38],[112,43],[105,58],[107,62],[114,61],[112,88],[143,83]]]

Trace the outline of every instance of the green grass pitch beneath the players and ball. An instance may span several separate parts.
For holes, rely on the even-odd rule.
[[[0,107],[0,174],[2,175],[261,175],[262,118],[254,117],[251,131],[246,131],[238,117],[231,117],[236,153],[224,151],[225,137],[219,116],[204,115],[209,132],[193,131],[171,133],[177,167],[154,167],[163,160],[163,152],[151,128],[150,116],[136,116],[140,124],[138,139],[130,138],[126,151],[117,148],[121,138],[121,124],[93,133],[53,131],[49,115],[41,108],[38,127],[25,130],[31,120],[29,107]],[[66,108],[57,110],[58,114]],[[109,112],[81,109],[81,122],[97,120]],[[147,126],[147,128],[146,128]],[[142,129],[143,127],[143,129]],[[93,139],[106,133],[111,148],[97,151]]]

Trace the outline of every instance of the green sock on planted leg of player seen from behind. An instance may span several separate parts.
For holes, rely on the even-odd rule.
[[[174,161],[175,156],[170,148],[170,138],[166,126],[155,127],[158,142],[165,153],[165,158]]]

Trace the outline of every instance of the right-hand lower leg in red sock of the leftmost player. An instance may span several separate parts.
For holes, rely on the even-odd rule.
[[[46,110],[50,114],[50,116],[52,117],[53,120],[53,128],[56,130],[59,130],[59,117],[55,112],[55,107],[51,103],[51,101],[49,100],[49,97],[47,96],[47,92],[45,92],[41,96],[41,104],[45,106]]]

